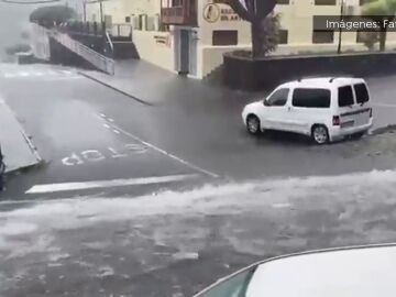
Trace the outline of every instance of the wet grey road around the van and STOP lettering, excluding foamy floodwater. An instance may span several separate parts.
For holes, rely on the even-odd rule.
[[[369,80],[376,128],[395,122],[396,103],[389,96],[396,91],[394,80]],[[41,198],[109,195],[109,190],[136,196],[169,184],[155,178],[176,176],[176,182],[186,178],[182,184],[190,186],[219,178],[387,169],[396,161],[393,142],[378,144],[377,136],[323,147],[284,133],[252,138],[240,116],[250,97],[240,92],[216,91],[213,98],[201,100],[170,98],[150,107],[74,70],[37,65],[2,67],[0,86],[47,162],[40,170],[9,182],[8,196],[19,198],[26,191]],[[91,188],[94,182],[100,187]],[[81,190],[85,186],[87,193]],[[64,193],[65,188],[69,190]]]

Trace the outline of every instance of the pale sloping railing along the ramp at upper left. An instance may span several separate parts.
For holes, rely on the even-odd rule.
[[[69,37],[65,33],[53,30],[51,31],[51,36],[72,52],[88,61],[96,68],[107,74],[114,75],[114,61],[112,58],[97,53],[82,43]]]

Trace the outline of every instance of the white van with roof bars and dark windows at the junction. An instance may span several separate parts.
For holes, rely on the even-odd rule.
[[[308,78],[278,86],[266,99],[248,105],[242,118],[252,134],[289,131],[324,144],[361,138],[373,125],[373,109],[362,78]]]

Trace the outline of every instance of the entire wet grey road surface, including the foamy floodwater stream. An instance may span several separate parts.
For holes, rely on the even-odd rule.
[[[191,296],[263,257],[396,240],[392,129],[252,138],[244,94],[150,107],[37,67],[0,69],[46,161],[1,196],[0,296]],[[395,122],[393,81],[370,80],[376,128]]]

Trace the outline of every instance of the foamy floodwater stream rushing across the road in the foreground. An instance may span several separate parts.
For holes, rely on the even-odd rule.
[[[0,212],[0,296],[191,296],[254,261],[396,241],[396,173],[75,198]]]

